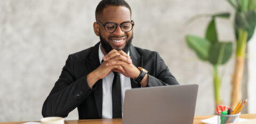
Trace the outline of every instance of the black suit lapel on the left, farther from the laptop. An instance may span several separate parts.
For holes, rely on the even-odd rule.
[[[91,50],[89,58],[87,59],[87,67],[89,68],[90,72],[95,70],[100,66],[100,60],[99,60],[99,45],[100,42],[98,42]],[[95,84],[95,90],[93,91],[95,103],[97,106],[99,118],[102,118],[102,79],[100,79]]]

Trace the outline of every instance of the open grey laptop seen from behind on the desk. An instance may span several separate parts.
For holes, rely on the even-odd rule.
[[[193,123],[197,90],[198,84],[127,90],[122,123]]]

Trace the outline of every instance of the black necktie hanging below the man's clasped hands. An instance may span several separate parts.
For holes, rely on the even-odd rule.
[[[112,112],[113,118],[122,118],[121,82],[119,73],[114,73],[112,84]]]

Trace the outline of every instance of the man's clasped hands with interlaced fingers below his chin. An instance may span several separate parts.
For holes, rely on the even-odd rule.
[[[123,50],[111,50],[102,58],[104,61],[101,65],[87,75],[87,83],[92,87],[99,79],[106,77],[108,74],[118,72],[126,77],[136,79],[140,70],[132,64],[132,59]]]

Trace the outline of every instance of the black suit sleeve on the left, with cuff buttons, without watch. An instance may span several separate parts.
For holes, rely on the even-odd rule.
[[[75,81],[73,58],[69,55],[58,81],[43,104],[43,117],[67,117],[81,104],[95,89],[89,87],[86,77],[84,75]]]

